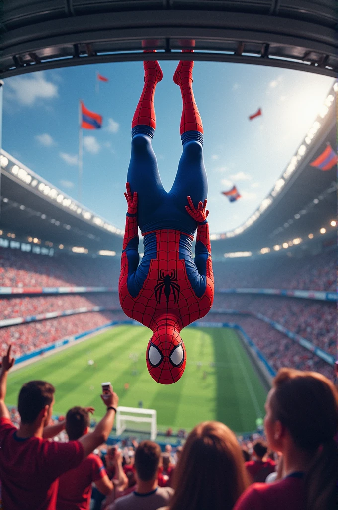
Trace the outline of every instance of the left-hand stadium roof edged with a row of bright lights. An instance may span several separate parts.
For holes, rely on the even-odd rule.
[[[1,228],[16,237],[121,252],[121,231],[5,150],[0,155]]]

